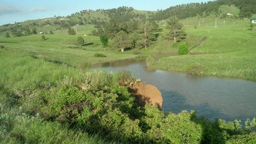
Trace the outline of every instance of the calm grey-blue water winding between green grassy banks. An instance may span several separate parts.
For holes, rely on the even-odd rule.
[[[187,75],[162,70],[148,71],[143,60],[103,63],[93,69],[130,70],[147,84],[157,86],[163,96],[164,112],[196,110],[214,121],[256,117],[256,82],[241,79]]]

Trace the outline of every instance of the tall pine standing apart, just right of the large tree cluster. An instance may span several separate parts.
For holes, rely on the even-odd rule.
[[[167,29],[169,29],[168,38],[174,40],[174,42],[180,41],[180,39],[186,38],[186,33],[183,31],[183,24],[177,19],[177,17],[171,17],[167,21]]]

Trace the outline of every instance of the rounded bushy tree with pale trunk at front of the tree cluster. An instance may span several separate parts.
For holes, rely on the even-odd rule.
[[[121,51],[124,52],[125,48],[131,46],[131,41],[128,34],[125,31],[118,32],[114,38],[114,45],[117,49],[121,49]]]

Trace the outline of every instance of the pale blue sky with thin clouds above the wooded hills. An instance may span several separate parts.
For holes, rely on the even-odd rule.
[[[0,25],[24,20],[67,16],[83,9],[112,9],[131,6],[138,10],[156,11],[183,3],[209,0],[0,0]]]

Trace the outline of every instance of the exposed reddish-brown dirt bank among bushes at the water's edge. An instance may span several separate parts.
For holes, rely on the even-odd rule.
[[[135,102],[141,107],[144,107],[147,102],[151,105],[157,105],[162,108],[163,97],[157,87],[139,82],[137,84],[133,84],[129,89],[130,92],[135,95]]]

